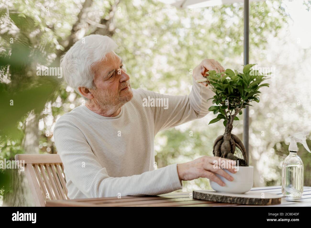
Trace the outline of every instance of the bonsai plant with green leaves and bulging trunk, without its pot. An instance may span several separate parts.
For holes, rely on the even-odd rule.
[[[248,157],[242,141],[231,133],[233,121],[239,120],[237,115],[242,114],[242,109],[250,105],[252,101],[259,102],[258,89],[263,86],[269,87],[268,83],[261,84],[268,79],[258,70],[251,69],[256,64],[244,66],[243,73],[236,70],[226,69],[225,72],[216,73],[215,70],[208,71],[207,78],[197,80],[197,82],[207,81],[211,85],[211,90],[215,92],[211,106],[208,110],[217,114],[209,124],[224,120],[225,133],[216,138],[213,146],[213,154],[216,157],[222,157],[231,160],[237,160],[239,166],[248,166]],[[235,156],[239,149],[243,158]]]

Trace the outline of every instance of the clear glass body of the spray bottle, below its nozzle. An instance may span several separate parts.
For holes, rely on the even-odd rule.
[[[289,198],[300,198],[303,192],[304,164],[296,151],[290,151],[282,166],[282,194]]]

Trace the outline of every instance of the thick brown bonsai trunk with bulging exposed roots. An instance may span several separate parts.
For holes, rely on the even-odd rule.
[[[231,134],[233,118],[229,117],[226,123],[225,133],[216,138],[213,146],[213,154],[216,157],[239,161],[239,166],[248,166],[248,158],[245,147],[238,136]],[[239,148],[243,159],[234,156],[235,149]]]

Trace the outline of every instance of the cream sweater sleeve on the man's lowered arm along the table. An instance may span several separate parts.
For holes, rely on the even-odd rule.
[[[109,177],[86,137],[70,121],[59,119],[53,136],[66,178],[88,198],[158,195],[182,189],[177,164],[140,175]]]

